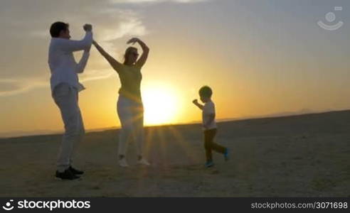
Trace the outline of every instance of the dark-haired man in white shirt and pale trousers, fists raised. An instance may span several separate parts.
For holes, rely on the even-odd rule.
[[[51,43],[48,50],[48,65],[51,70],[51,93],[60,109],[65,126],[58,153],[55,177],[74,180],[83,171],[73,168],[73,155],[85,133],[83,119],[78,105],[78,92],[85,89],[79,83],[78,73],[84,71],[92,44],[92,26],[83,26],[86,34],[83,40],[70,40],[68,23],[55,22],[51,25]],[[73,52],[84,50],[83,57],[75,62]]]

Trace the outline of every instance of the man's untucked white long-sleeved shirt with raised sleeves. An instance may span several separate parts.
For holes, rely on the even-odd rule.
[[[60,83],[67,83],[78,91],[85,89],[79,83],[78,73],[84,71],[90,53],[88,49],[92,43],[92,32],[87,32],[83,40],[69,40],[51,38],[48,50],[48,65],[51,70],[51,92]],[[75,62],[73,52],[84,50],[80,61]]]

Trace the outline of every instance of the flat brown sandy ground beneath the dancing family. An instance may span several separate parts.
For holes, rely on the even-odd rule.
[[[60,135],[0,140],[1,197],[350,197],[350,111],[218,124],[214,154],[204,168],[201,126],[147,128],[147,158],[117,165],[118,130],[88,133],[76,165],[80,180],[57,180]]]

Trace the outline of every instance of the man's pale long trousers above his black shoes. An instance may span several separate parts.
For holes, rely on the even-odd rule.
[[[73,163],[78,143],[85,133],[83,119],[78,105],[78,90],[69,84],[58,84],[53,90],[53,99],[60,109],[65,133],[58,153],[57,170],[63,172]]]

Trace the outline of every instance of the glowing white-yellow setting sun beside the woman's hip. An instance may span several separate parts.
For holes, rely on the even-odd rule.
[[[176,118],[176,93],[169,87],[149,87],[142,91],[144,124],[169,124]]]

